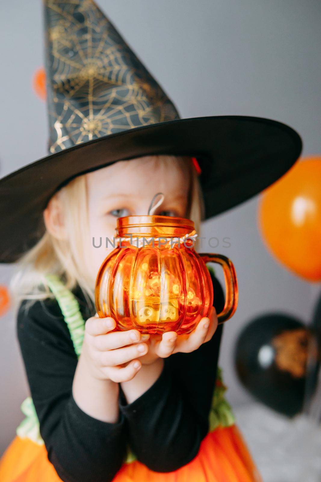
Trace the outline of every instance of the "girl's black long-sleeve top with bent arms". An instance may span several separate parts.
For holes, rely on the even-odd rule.
[[[213,277],[214,306],[224,295]],[[94,315],[81,289],[84,320]],[[55,299],[20,305],[17,335],[48,458],[65,482],[108,482],[120,469],[127,444],[149,469],[169,472],[190,462],[208,431],[222,327],[192,353],[165,359],[154,384],[132,403],[120,388],[120,415],[108,423],[83,412],[72,395],[77,366],[70,333]]]

